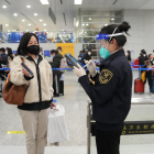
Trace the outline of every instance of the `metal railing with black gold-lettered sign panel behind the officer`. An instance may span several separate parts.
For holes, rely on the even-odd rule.
[[[154,102],[132,105],[154,105]],[[96,121],[92,119],[92,102],[88,100],[87,106],[87,154],[90,154],[91,136],[96,135]],[[154,121],[124,121],[122,135],[153,134]]]

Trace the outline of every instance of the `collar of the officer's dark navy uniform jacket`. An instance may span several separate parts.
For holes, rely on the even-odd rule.
[[[119,56],[125,56],[123,48],[120,50],[120,51],[117,51],[116,53],[110,55],[108,58],[101,61],[100,66],[105,65],[106,63],[110,63],[111,61],[113,61],[114,58],[117,58]]]

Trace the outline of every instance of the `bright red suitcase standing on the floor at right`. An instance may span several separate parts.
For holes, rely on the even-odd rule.
[[[139,78],[134,80],[134,92],[135,94],[144,92],[144,84]]]

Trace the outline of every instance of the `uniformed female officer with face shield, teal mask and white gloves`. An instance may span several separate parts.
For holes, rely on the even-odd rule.
[[[123,46],[131,26],[128,22],[108,25],[97,35],[100,40],[100,74],[92,61],[87,63],[91,82],[85,69],[74,67],[79,82],[92,101],[92,117],[96,120],[96,143],[98,154],[119,154],[120,136],[130,107],[132,94],[132,70]]]

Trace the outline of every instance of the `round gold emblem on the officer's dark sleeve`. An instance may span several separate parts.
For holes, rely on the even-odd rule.
[[[111,80],[112,77],[113,77],[113,74],[110,70],[102,69],[100,75],[99,75],[99,82],[107,84]]]

